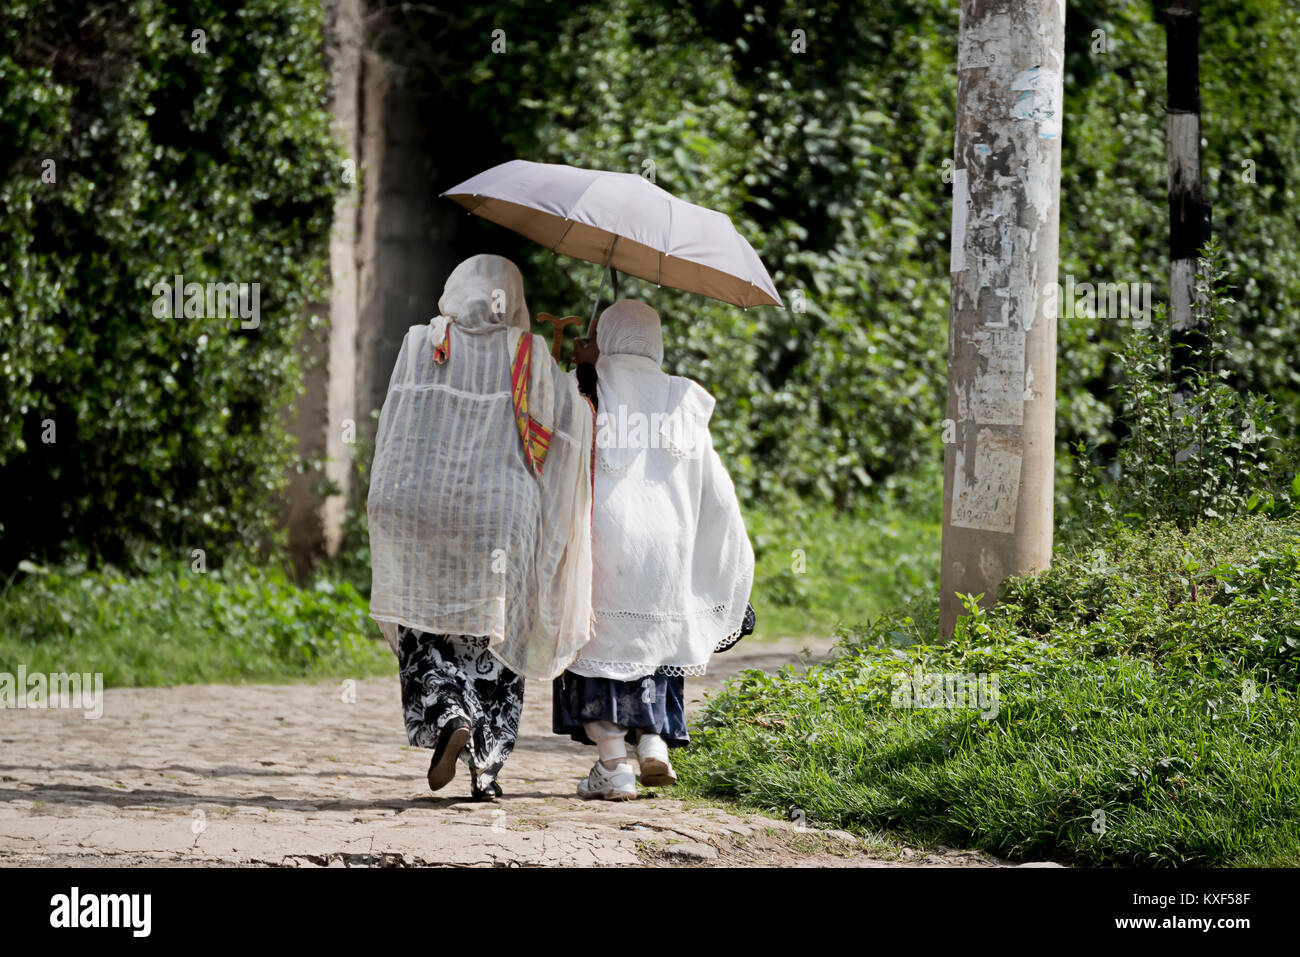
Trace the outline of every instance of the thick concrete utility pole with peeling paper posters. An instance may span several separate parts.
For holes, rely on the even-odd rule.
[[[1065,0],[962,0],[940,629],[1052,562]]]

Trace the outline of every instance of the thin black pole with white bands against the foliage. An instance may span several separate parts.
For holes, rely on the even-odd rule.
[[[1196,374],[1205,346],[1197,320],[1196,257],[1210,238],[1210,207],[1201,189],[1201,72],[1197,0],[1170,0],[1165,10],[1165,151],[1169,160],[1169,319],[1174,382]]]

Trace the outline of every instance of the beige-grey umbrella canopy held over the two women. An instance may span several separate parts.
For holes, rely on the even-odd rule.
[[[442,194],[551,252],[733,306],[780,306],[731,218],[633,173],[511,160]]]

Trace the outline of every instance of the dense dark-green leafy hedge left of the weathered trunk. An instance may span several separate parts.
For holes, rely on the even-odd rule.
[[[321,26],[302,0],[0,10],[0,567],[268,540],[341,185]],[[256,328],[157,317],[176,274],[259,283]]]

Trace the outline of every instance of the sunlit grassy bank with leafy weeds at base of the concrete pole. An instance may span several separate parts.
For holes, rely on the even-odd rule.
[[[918,606],[826,667],[746,672],[675,761],[685,787],[1011,858],[1300,865],[1300,521],[1101,545],[952,642]],[[916,667],[996,676],[996,716],[906,707]]]

